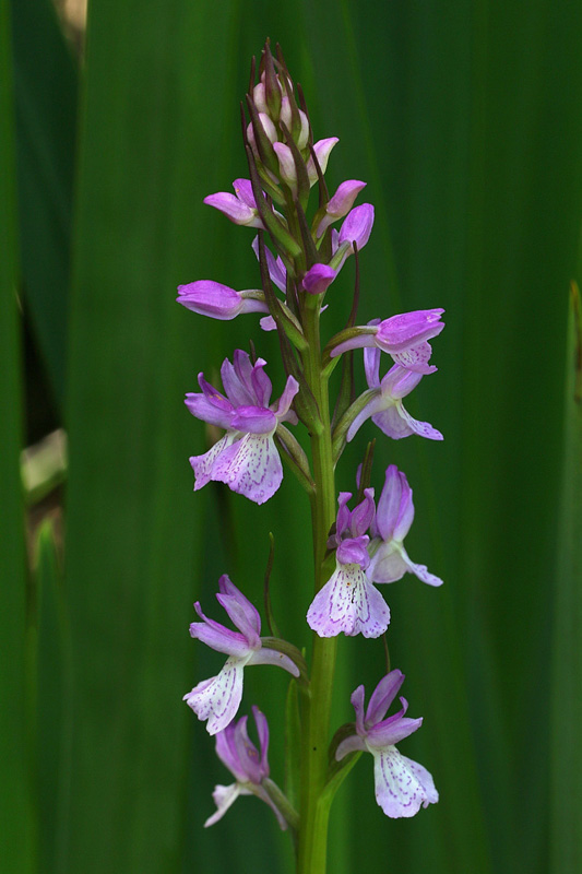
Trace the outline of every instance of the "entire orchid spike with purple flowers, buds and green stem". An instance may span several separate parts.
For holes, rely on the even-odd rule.
[[[348,492],[336,497],[334,471],[346,444],[368,418],[392,439],[411,435],[442,439],[431,425],[413,418],[403,400],[437,369],[429,363],[429,341],[444,327],[443,310],[417,310],[358,326],[357,281],[348,323],[322,349],[323,302],[346,260],[355,257],[358,263],[372,231],[373,206],[354,206],[366,185],[360,180],[346,180],[329,196],[324,174],[337,138],[313,142],[301,90],[294,86],[278,46],[273,57],[265,45],[257,72],[258,83],[253,61],[244,127],[250,178],[236,179],[235,193],[218,192],[204,202],[235,224],[258,232],[252,249],[259,261],[260,287],[236,291],[199,280],[178,287],[178,302],[221,320],[260,314],[261,328],[278,334],[287,378],[281,397],[272,402],[266,362],[256,357],[254,347],[252,355],[236,350],[231,362],[225,358],[222,390],[200,374],[200,392],[188,393],[186,405],[224,435],[190,463],[194,489],[216,481],[263,504],[281,486],[283,459],[307,491],[316,544],[316,593],[311,604],[306,604],[307,624],[316,633],[312,669],[310,674],[302,653],[290,642],[261,637],[257,609],[225,574],[216,598],[237,630],[207,618],[197,602],[202,622],[192,623],[191,636],[227,659],[216,676],[194,686],[185,700],[206,721],[207,732],[216,739],[216,753],[236,780],[230,787],[216,787],[217,810],[205,825],[219,819],[239,794],[256,794],[273,808],[281,827],[294,835],[298,871],[322,871],[326,814],[321,811],[329,807],[335,788],[363,752],[373,756],[376,799],[388,816],[413,816],[420,806],[438,801],[430,773],[396,748],[420,727],[421,719],[404,716],[404,698],[402,710],[384,718],[404,681],[400,671],[387,668],[366,712],[365,689],[358,686],[352,695],[356,721],[338,729],[331,744],[329,722],[337,636],[378,638],[389,626],[390,610],[377,587],[405,574],[429,586],[442,583],[425,565],[413,562],[404,547],[414,519],[405,474],[390,464],[376,503],[370,486],[373,444],[368,445],[358,469],[355,498]],[[313,208],[310,196],[316,186],[319,198]],[[360,347],[368,388],[356,398],[352,368],[345,364]],[[382,353],[389,364],[380,377]],[[342,389],[332,418],[328,385],[342,356]],[[299,422],[309,434],[311,460],[292,429]],[[237,721],[244,671],[253,664],[280,665],[301,693],[298,800],[287,798],[270,779],[264,714],[253,707],[259,749],[249,739],[247,717]]]

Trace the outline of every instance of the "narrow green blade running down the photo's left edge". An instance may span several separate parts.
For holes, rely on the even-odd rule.
[[[5,871],[34,869],[35,811],[27,721],[26,556],[20,481],[21,347],[16,310],[17,249],[10,19],[0,3],[0,846]]]

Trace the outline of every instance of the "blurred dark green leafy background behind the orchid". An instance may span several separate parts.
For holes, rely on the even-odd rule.
[[[332,189],[367,180],[376,205],[360,319],[447,309],[439,373],[411,400],[446,440],[380,439],[373,476],[406,471],[408,551],[446,580],[382,590],[425,718],[401,748],[441,800],[387,819],[364,756],[334,803],[330,872],[582,871],[582,5],[91,0],[86,38],[60,13],[1,0],[0,870],[293,869],[254,799],[202,828],[228,775],[180,700],[222,663],[189,638],[192,602],[221,618],[224,571],[260,602],[271,530],[275,615],[309,643],[299,487],[286,476],[266,509],[193,495],[188,464],[205,440],[182,404],[198,371],[252,338],[276,394],[276,342],[252,316],[174,303],[194,279],[258,282],[253,232],[202,198],[247,173],[238,104],[270,36],[316,138],[340,138]],[[64,477],[23,494],[21,449],[56,428]],[[336,724],[382,672],[381,641],[342,638]],[[281,673],[247,672],[245,697],[270,718],[276,781]]]

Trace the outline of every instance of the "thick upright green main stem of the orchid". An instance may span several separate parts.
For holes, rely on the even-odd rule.
[[[328,534],[335,520],[335,479],[332,454],[328,380],[321,375],[319,299],[306,300],[304,354],[306,379],[317,400],[323,428],[311,435],[314,494],[311,499],[316,592],[329,579],[325,562]],[[301,748],[300,829],[297,851],[298,874],[324,874],[329,805],[320,804],[328,775],[328,746],[336,638],[313,634],[311,682],[305,697]]]

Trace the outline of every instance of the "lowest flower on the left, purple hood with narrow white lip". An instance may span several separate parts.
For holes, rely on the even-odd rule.
[[[230,722],[226,729],[216,734],[216,755],[225,765],[236,782],[230,786],[217,786],[212,793],[216,812],[204,823],[204,827],[213,826],[225,815],[226,811],[239,795],[257,795],[266,802],[274,811],[282,829],[287,828],[287,823],[280,810],[271,801],[263,780],[269,777],[269,725],[266,717],[258,707],[252,708],[257,734],[259,735],[259,749],[249,737],[247,729],[248,717],[241,717],[238,722]]]

